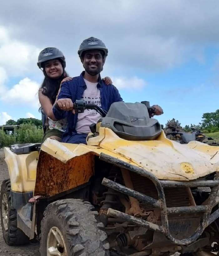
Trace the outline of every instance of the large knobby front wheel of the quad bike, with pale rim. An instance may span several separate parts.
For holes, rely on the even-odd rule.
[[[108,256],[107,235],[97,214],[81,199],[49,204],[41,221],[40,255]]]

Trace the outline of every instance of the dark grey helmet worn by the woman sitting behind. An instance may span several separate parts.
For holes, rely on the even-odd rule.
[[[39,57],[38,57],[38,67],[42,68],[42,63],[48,60],[53,60],[53,59],[61,59],[62,63],[63,63],[63,68],[65,68],[66,63],[65,63],[65,57],[64,54],[57,48],[55,47],[47,47],[45,49],[43,49],[43,51],[41,51],[39,53]]]

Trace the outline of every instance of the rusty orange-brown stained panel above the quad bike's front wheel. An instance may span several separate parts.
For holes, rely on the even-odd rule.
[[[41,151],[37,166],[34,196],[53,196],[76,188],[89,181],[94,170],[91,153],[74,157],[63,163]]]

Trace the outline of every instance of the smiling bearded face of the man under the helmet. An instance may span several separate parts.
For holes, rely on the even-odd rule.
[[[99,50],[89,50],[84,53],[83,66],[88,74],[95,76],[103,70],[103,56]]]

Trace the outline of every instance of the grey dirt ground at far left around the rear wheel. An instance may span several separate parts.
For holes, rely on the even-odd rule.
[[[4,161],[4,152],[3,149],[0,149],[0,186],[4,179],[8,179],[8,169],[7,165]],[[16,256],[40,256],[39,254],[39,244],[38,243],[30,243],[25,246],[8,246],[2,234],[2,226],[0,225],[0,256],[8,256],[8,255],[16,255]]]

